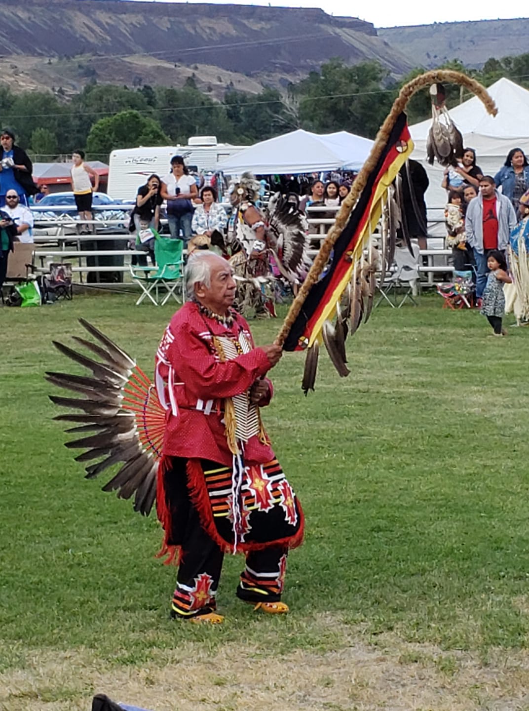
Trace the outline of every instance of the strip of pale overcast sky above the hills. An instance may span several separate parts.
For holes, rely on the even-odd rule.
[[[204,2],[207,0],[190,0]],[[395,27],[398,25],[429,25],[433,22],[454,22],[464,20],[492,20],[499,18],[527,17],[528,6],[521,0],[501,3],[498,0],[481,2],[459,2],[449,0],[429,0],[417,3],[378,0],[352,2],[351,0],[215,0],[215,4],[230,5],[273,5],[281,7],[319,7],[328,14],[360,17],[372,22],[375,27]]]

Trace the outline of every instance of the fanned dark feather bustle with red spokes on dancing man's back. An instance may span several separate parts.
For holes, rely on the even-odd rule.
[[[103,491],[117,490],[119,498],[134,494],[134,510],[149,515],[156,498],[164,409],[154,386],[134,360],[88,321],[80,319],[80,324],[97,343],[78,336],[73,339],[102,360],[53,341],[60,353],[92,373],[92,376],[46,373],[49,383],[84,396],[50,395],[55,405],[81,411],[57,415],[55,419],[80,423],[66,429],[69,434],[95,433],[66,442],[68,448],[86,449],[75,457],[77,461],[100,459],[86,467],[86,478],[93,479],[110,466],[122,464]]]

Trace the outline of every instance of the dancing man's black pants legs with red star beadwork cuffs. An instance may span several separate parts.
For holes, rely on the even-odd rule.
[[[183,478],[171,482],[171,496],[178,498],[181,539],[181,561],[171,614],[175,617],[207,614],[216,609],[224,553],[203,530]],[[286,566],[287,547],[272,546],[249,552],[235,594],[247,602],[279,602]]]

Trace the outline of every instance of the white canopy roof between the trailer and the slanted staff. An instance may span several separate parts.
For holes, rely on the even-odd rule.
[[[346,131],[320,135],[299,129],[239,151],[219,161],[216,169],[256,175],[360,170],[371,146],[370,139]]]

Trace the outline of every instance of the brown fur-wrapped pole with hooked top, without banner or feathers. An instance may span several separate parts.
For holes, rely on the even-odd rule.
[[[274,341],[279,346],[284,345],[284,341],[289,335],[289,331],[292,328],[294,321],[297,316],[299,316],[301,307],[303,306],[311,287],[316,284],[321,272],[323,272],[324,267],[326,266],[331,255],[333,246],[335,245],[336,240],[338,240],[338,237],[341,235],[343,228],[346,226],[348,218],[351,215],[354,205],[356,205],[356,201],[358,200],[360,193],[365,188],[368,176],[370,176],[370,173],[375,169],[380,156],[383,154],[383,150],[385,149],[392,129],[397,122],[397,118],[400,114],[402,114],[407,102],[415,94],[415,92],[429,85],[436,84],[437,82],[451,82],[463,85],[481,99],[489,114],[496,116],[498,113],[498,109],[496,109],[496,105],[486,89],[479,82],[476,82],[476,80],[471,79],[460,72],[454,72],[452,70],[434,70],[415,77],[415,79],[407,82],[407,84],[402,87],[397,99],[393,102],[390,113],[378,131],[368,159],[363,164],[362,169],[360,169],[360,173],[358,173],[356,180],[353,182],[351,192],[341,204],[341,209],[336,215],[336,220],[331,229],[328,231],[324,242],[322,242],[320,250],[316,255],[311,269],[309,270],[309,274],[307,274],[305,281],[301,284],[299,292],[290,306],[281,331],[279,331]]]

